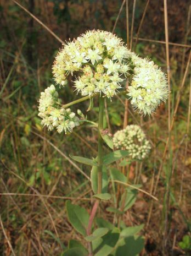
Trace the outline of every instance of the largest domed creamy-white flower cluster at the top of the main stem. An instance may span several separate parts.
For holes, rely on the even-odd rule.
[[[125,80],[131,52],[110,32],[87,31],[68,42],[53,65],[57,84],[66,85],[69,74],[76,73],[74,86],[83,96],[99,93],[112,97]]]

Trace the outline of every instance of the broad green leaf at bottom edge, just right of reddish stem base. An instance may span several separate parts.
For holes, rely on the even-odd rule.
[[[105,236],[92,242],[94,256],[108,256],[116,246],[120,237],[119,228],[110,230]]]

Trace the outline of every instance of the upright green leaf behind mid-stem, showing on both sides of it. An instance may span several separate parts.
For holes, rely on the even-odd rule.
[[[98,189],[98,168],[97,166],[93,166],[91,170],[91,183],[92,190],[96,194]],[[108,191],[108,173],[106,170],[106,166],[103,166],[102,169],[102,192],[106,193]]]

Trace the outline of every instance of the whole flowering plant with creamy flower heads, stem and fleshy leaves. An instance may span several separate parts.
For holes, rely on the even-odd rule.
[[[117,168],[109,168],[108,176],[107,170],[116,161],[122,160],[120,166],[130,167],[132,161],[145,159],[149,154],[150,144],[141,128],[136,125],[119,130],[113,138],[108,135],[103,130],[104,100],[107,97],[111,99],[122,91],[131,99],[134,108],[138,108],[144,115],[150,115],[167,98],[166,76],[153,62],[128,50],[119,37],[100,30],[87,31],[76,40],[68,42],[55,58],[53,75],[55,82],[61,87],[66,86],[71,77],[75,91],[84,97],[61,105],[54,85],[41,92],[38,116],[42,118],[42,125],[49,130],[56,128],[59,133],[72,132],[81,123],[80,118],[85,121],[85,116],[78,110],[80,118],[77,117],[69,107],[88,99],[92,102],[95,96],[99,97],[98,124],[86,120],[98,128],[98,156],[96,159],[71,156],[75,161],[92,166],[90,179],[94,205],[89,215],[80,206],[66,202],[68,219],[75,230],[85,237],[88,250],[79,241],[73,241],[62,255],[136,256],[144,246],[143,238],[136,235],[141,231],[142,225],[126,227],[121,216],[136,200],[138,187],[128,183],[128,171],[125,176]],[[127,79],[130,81],[128,90],[124,89]],[[104,142],[113,149],[107,155],[103,152]],[[128,162],[125,161],[124,164],[123,160],[126,159]],[[108,193],[109,181],[113,184],[113,196]],[[115,183],[125,187],[121,190],[121,199],[115,194]],[[115,213],[114,223],[99,218],[95,224],[100,201],[111,198],[114,199],[115,207],[107,210]]]

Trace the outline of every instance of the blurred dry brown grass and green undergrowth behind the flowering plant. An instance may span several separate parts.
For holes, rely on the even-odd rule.
[[[161,106],[151,118],[141,117],[128,106],[128,124],[141,125],[153,146],[149,159],[143,164],[134,162],[131,180],[159,200],[139,193],[123,221],[127,226],[144,223],[141,255],[162,255],[164,251],[165,255],[190,255],[191,3],[167,1],[169,55],[162,0],[19,3],[63,41],[88,29],[114,29],[125,42],[129,35],[132,49],[142,57],[149,56],[165,72],[170,61],[170,106]],[[67,220],[66,199],[90,205],[92,193],[81,174],[89,176],[90,168],[76,166],[69,154],[96,155],[97,133],[88,126],[77,127],[71,135],[41,128],[37,100],[53,83],[51,68],[61,43],[14,1],[2,0],[0,15],[0,255],[60,255],[69,239],[80,239]],[[63,102],[77,97],[71,86],[61,93]],[[111,133],[123,127],[124,102],[120,97],[109,104]],[[88,102],[80,106],[86,111]],[[97,121],[97,111],[95,102],[87,115]],[[112,220],[113,214],[105,210],[107,204],[102,204],[99,215]]]

